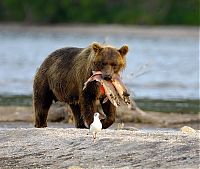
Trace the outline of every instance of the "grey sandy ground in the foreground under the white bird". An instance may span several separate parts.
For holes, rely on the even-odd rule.
[[[0,168],[194,168],[199,132],[86,129],[0,130]]]

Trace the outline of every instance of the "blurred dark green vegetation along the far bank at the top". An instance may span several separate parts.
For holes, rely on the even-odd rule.
[[[0,21],[199,25],[199,0],[3,0]]]

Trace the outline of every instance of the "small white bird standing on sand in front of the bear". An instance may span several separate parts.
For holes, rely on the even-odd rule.
[[[102,129],[102,124],[99,119],[99,113],[94,113],[94,121],[90,125],[90,132],[93,134],[93,139],[96,139],[96,134]]]

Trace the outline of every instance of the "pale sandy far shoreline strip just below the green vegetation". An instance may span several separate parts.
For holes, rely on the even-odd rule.
[[[84,34],[122,34],[140,37],[193,37],[198,38],[198,26],[138,26],[119,24],[55,24],[55,25],[30,25],[18,23],[0,23],[0,31],[38,31]]]

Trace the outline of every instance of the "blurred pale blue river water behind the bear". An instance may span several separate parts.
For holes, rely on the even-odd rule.
[[[124,83],[136,98],[198,99],[199,37],[0,27],[0,95],[30,95],[36,69],[65,46],[128,44]]]

